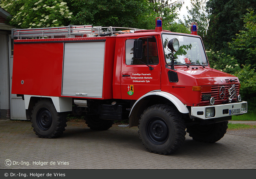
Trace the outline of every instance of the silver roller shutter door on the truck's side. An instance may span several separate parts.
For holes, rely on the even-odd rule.
[[[62,95],[102,98],[105,41],[65,43]]]

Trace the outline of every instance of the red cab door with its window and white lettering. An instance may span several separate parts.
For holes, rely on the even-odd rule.
[[[140,38],[142,58],[134,57],[135,39],[125,39],[121,67],[121,98],[139,99],[154,90],[161,90],[161,64],[155,37]],[[152,67],[153,69],[150,69]]]

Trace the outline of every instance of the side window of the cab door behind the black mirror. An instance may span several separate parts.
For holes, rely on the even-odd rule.
[[[133,44],[135,39],[126,40],[126,65],[157,65],[159,63],[156,38],[142,38],[143,54],[141,59],[133,57]],[[143,63],[142,63],[143,62]]]

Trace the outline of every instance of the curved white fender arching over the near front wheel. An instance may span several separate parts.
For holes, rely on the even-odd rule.
[[[187,105],[183,104],[180,99],[178,99],[176,96],[164,92],[164,91],[152,91],[149,93],[146,93],[145,95],[141,96],[136,102],[135,104],[132,106],[132,109],[130,111],[129,114],[129,127],[135,126],[136,125],[136,121],[139,121],[140,115],[142,114],[142,112],[139,112],[139,106],[141,106],[141,104],[143,104],[143,100],[146,97],[149,96],[161,96],[164,97],[165,99],[169,100],[171,103],[174,104],[174,106],[176,106],[176,108],[179,110],[179,112],[181,113],[189,113],[189,110],[187,108]]]

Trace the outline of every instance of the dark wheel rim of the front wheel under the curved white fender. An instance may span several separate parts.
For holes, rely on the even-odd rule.
[[[154,117],[148,121],[146,133],[149,140],[156,145],[165,143],[169,136],[167,124],[159,117]]]

